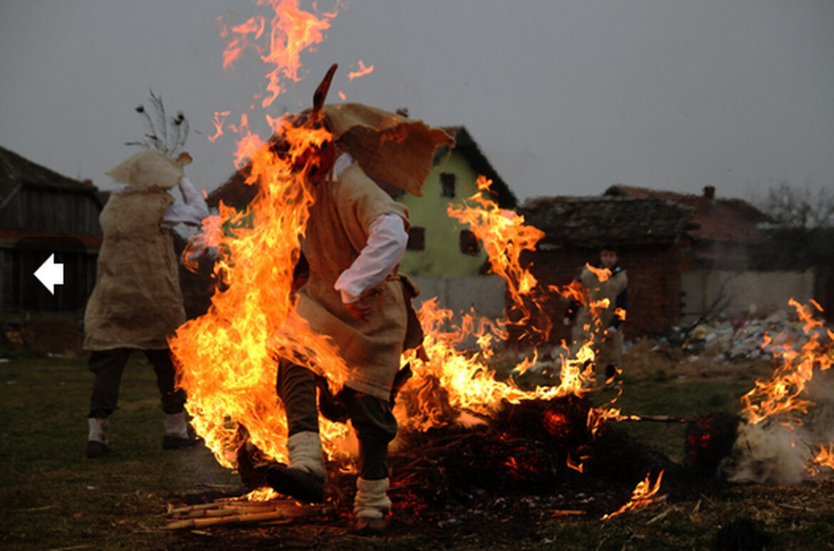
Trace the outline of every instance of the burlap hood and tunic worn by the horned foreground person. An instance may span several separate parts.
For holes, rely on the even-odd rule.
[[[442,130],[374,107],[324,106],[330,132],[357,161],[336,181],[317,186],[302,251],[310,277],[299,290],[297,311],[319,334],[329,335],[354,368],[346,385],[382,400],[390,397],[403,350],[420,345],[422,331],[410,300],[419,292],[394,271],[361,300],[373,306],[368,321],[355,320],[334,290],[339,275],[353,264],[368,240],[371,223],[395,214],[409,227],[408,211],[369,178],[422,195],[435,150],[452,146]],[[367,173],[367,174],[366,174]],[[409,323],[410,321],[410,323]]]

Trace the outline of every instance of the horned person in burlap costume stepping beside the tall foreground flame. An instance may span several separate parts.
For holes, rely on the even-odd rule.
[[[435,149],[454,141],[423,122],[360,104],[325,105],[321,117],[335,140],[327,146],[334,152],[323,158],[334,162],[319,168],[326,176],[314,186],[301,245],[309,279],[298,291],[296,310],[338,345],[351,367],[337,400],[359,439],[353,529],[378,534],[391,507],[388,444],[397,430],[392,385],[401,353],[419,347],[423,334],[411,306],[419,290],[398,272],[408,211],[374,180],[422,196]],[[324,499],[316,377],[299,365],[279,365],[289,465],[273,466],[267,474],[276,491],[309,502]]]

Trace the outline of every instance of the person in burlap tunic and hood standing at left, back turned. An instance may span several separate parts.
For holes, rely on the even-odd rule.
[[[156,372],[164,411],[164,449],[191,447],[183,405],[174,386],[166,337],[185,321],[177,257],[171,230],[178,223],[199,225],[208,216],[203,196],[183,175],[187,153],[177,160],[157,151],[139,151],[108,172],[128,186],[113,192],[99,221],[103,231],[98,276],[84,312],[84,349],[95,374],[88,413],[89,458],[110,450],[108,417],[116,409],[124,366],[142,350]],[[184,203],[168,190],[179,186]]]

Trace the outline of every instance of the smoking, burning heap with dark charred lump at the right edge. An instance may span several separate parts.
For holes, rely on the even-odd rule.
[[[776,347],[765,334],[761,345],[773,348],[775,371],[756,380],[741,397],[741,412],[706,414],[686,434],[686,457],[701,475],[731,482],[797,484],[820,479],[834,469],[834,332],[814,318],[820,305],[790,304],[802,321],[797,343]],[[812,384],[813,383],[813,384]]]

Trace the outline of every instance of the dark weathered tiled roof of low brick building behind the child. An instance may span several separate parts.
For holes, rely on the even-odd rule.
[[[543,243],[590,248],[671,243],[692,216],[690,207],[656,197],[540,197],[518,212],[545,231]]]

